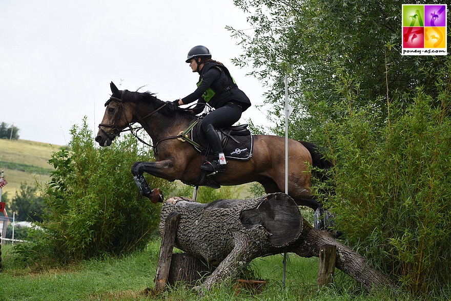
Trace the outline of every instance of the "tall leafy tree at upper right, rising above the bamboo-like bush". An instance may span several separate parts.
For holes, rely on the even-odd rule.
[[[345,112],[336,106],[346,93],[353,93],[354,110],[371,105],[380,121],[388,116],[386,103],[406,107],[412,103],[417,85],[437,96],[434,82],[441,76],[425,77],[422,66],[437,70],[445,56],[401,55],[401,6],[399,0],[355,2],[351,0],[235,0],[248,12],[253,30],[229,28],[244,53],[234,59],[238,66],[251,65],[255,76],[271,87],[265,95],[273,105],[272,130],[283,131],[284,76],[295,112],[290,118],[291,136],[316,140],[312,132],[322,121]],[[417,1],[417,3],[442,3]],[[384,47],[387,46],[387,47]],[[449,78],[449,75],[445,75]],[[336,91],[336,84],[347,88]],[[389,93],[387,92],[387,85]],[[318,107],[326,107],[318,115]],[[376,124],[377,126],[377,124]]]

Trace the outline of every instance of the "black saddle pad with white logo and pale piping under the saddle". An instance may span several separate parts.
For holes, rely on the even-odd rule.
[[[200,122],[191,130],[191,139],[201,146],[201,148],[196,146],[194,148],[199,153],[208,156],[210,144],[202,130],[202,126],[200,126]],[[247,124],[219,128],[216,132],[218,132],[226,158],[249,160],[252,157],[254,137],[251,135]]]

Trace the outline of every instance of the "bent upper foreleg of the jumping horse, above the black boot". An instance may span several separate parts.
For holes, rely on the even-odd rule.
[[[132,174],[134,176],[142,176],[148,173],[157,178],[166,179],[168,181],[177,180],[178,170],[171,160],[161,160],[157,162],[135,162],[132,166]]]

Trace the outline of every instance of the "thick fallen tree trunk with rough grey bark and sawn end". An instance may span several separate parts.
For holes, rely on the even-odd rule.
[[[323,245],[337,247],[336,267],[365,288],[388,283],[384,274],[365,264],[363,256],[335,240],[330,232],[316,230],[303,220],[293,199],[284,193],[210,204],[170,198],[161,210],[161,233],[171,212],[180,213],[175,247],[218,265],[202,284],[208,290],[257,257],[284,252],[318,257]]]

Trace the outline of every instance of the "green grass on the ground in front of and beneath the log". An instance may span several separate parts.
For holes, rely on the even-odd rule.
[[[285,286],[281,284],[282,255],[252,262],[252,269],[267,281],[260,294],[236,292],[227,283],[203,297],[182,284],[159,295],[146,295],[145,290],[154,287],[159,246],[156,241],[147,250],[123,258],[46,269],[21,266],[14,262],[11,246],[4,245],[0,300],[414,300],[397,291],[366,292],[340,271],[336,271],[335,286],[319,289],[318,260],[295,254],[289,255]]]

